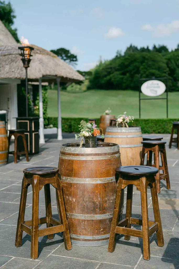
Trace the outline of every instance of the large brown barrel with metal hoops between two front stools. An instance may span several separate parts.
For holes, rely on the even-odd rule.
[[[115,168],[120,165],[118,144],[98,142],[97,148],[79,148],[79,143],[61,145],[59,173],[72,244],[108,244],[116,194]],[[120,219],[123,202],[122,195]]]

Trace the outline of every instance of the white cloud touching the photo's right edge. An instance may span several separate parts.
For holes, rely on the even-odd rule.
[[[169,36],[172,33],[179,31],[179,20],[174,20],[171,23],[157,25],[154,34],[158,37]]]

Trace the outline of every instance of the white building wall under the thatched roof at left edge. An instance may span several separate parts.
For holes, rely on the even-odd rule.
[[[8,110],[8,129],[16,129],[17,84],[0,84],[0,109]]]

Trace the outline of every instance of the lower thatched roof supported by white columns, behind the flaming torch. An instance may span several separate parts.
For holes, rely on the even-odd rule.
[[[42,81],[47,82],[56,80],[56,78],[48,76],[61,77],[61,82],[84,80],[83,76],[57,55],[35,45],[30,46],[34,48],[32,61],[28,68],[30,81],[38,81],[40,77],[42,77]],[[19,53],[18,45],[0,47],[0,79],[25,79],[25,69]]]

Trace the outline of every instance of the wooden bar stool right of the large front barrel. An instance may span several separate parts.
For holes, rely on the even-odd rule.
[[[145,260],[150,259],[150,241],[149,237],[156,232],[157,244],[163,247],[163,232],[162,223],[160,219],[158,196],[156,190],[156,181],[154,175],[158,172],[155,167],[149,166],[121,166],[116,168],[116,173],[119,174],[117,183],[117,192],[114,205],[114,213],[111,224],[111,231],[109,236],[108,251],[113,252],[115,249],[116,233],[121,233],[125,240],[130,240],[130,236],[143,238],[143,257]],[[133,185],[135,185],[141,192],[141,207],[142,219],[132,218],[132,192]],[[154,209],[155,221],[148,220],[147,207],[147,186],[151,188],[152,203]],[[126,203],[126,217],[118,222],[119,219],[119,203],[122,189],[127,186],[127,203]],[[142,225],[142,231],[131,229],[131,224]],[[124,227],[125,226],[125,227]]]

